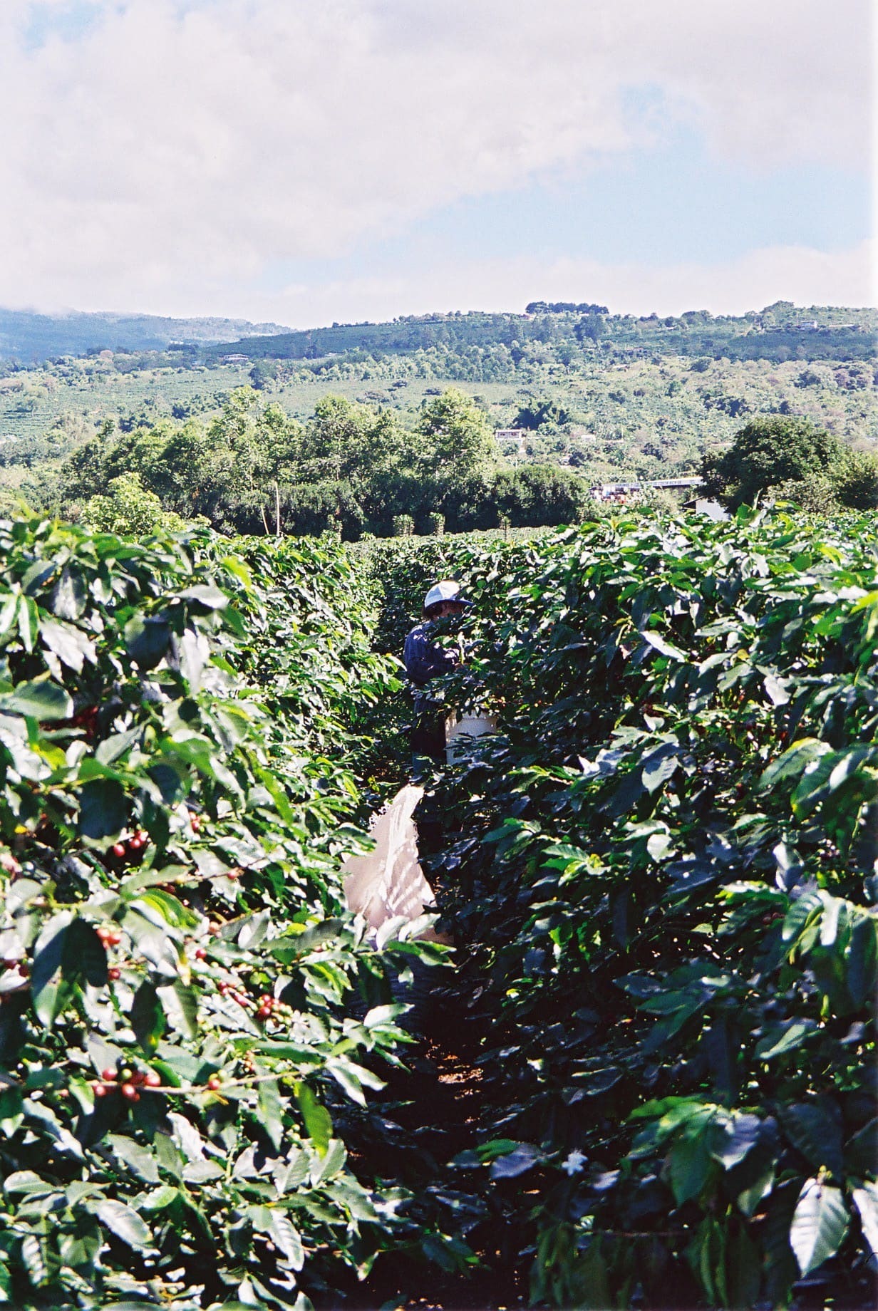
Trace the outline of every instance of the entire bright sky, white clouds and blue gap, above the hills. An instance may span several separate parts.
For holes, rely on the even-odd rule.
[[[0,304],[875,304],[871,13],[0,0]]]

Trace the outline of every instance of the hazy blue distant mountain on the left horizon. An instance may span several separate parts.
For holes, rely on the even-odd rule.
[[[161,315],[69,313],[0,308],[0,359],[34,364],[96,350],[164,350],[172,342],[220,342],[290,333],[246,319],[172,319]]]

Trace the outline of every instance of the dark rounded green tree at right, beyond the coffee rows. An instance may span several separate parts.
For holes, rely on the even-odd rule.
[[[722,455],[706,455],[701,475],[708,496],[736,509],[780,482],[832,469],[843,451],[837,437],[810,420],[769,414],[742,427]]]

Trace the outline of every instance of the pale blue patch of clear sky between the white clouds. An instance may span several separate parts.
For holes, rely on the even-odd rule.
[[[270,279],[355,277],[529,250],[545,258],[664,265],[744,256],[755,243],[845,250],[870,235],[870,180],[856,169],[795,164],[755,173],[712,159],[692,131],[588,172],[533,178],[440,206],[405,231],[328,260],[287,261]]]

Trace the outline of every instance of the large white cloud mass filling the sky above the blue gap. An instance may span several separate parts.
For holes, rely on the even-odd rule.
[[[218,309],[273,262],[619,155],[675,117],[759,168],[866,151],[868,0],[93,8],[79,39],[31,49],[33,5],[4,0],[0,303]],[[658,109],[632,109],[643,90]]]

